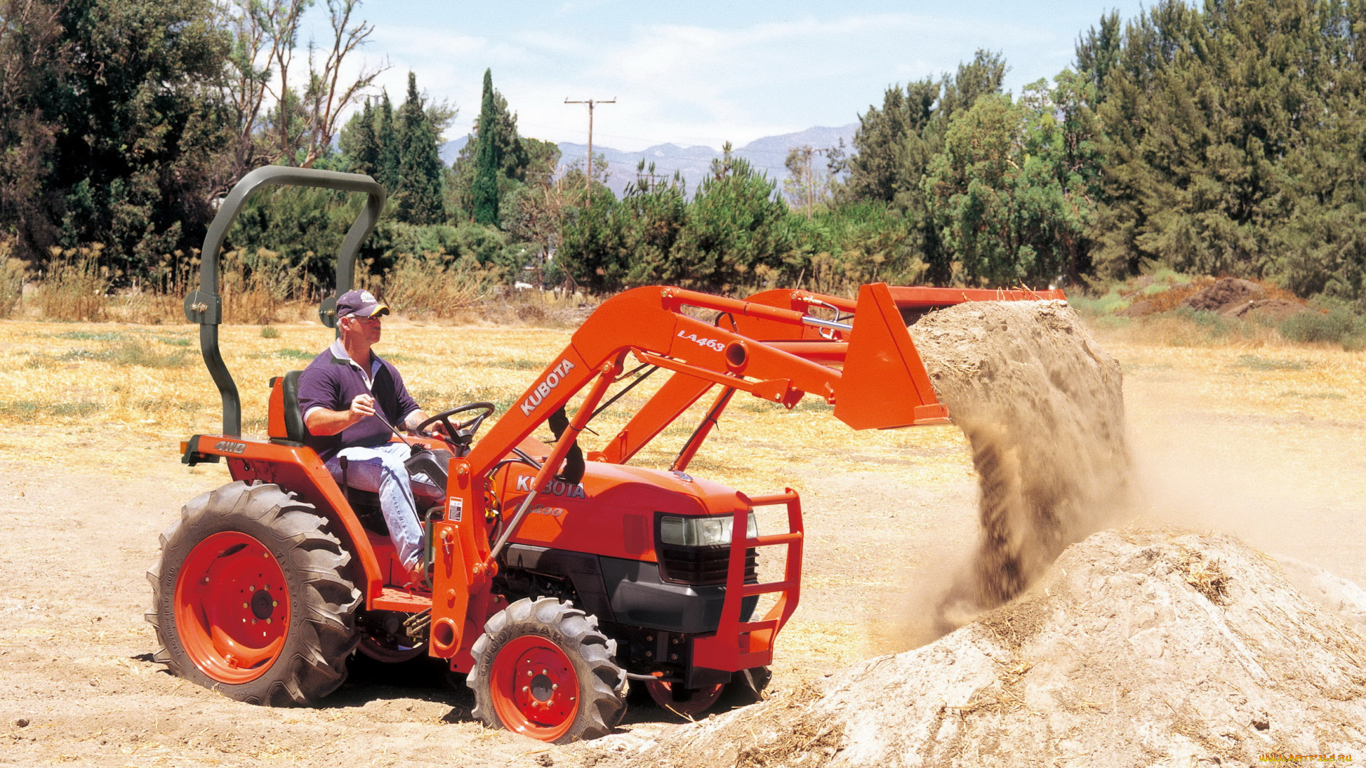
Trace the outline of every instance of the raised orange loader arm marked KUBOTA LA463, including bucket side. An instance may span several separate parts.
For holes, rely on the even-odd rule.
[[[765,328],[784,328],[787,333],[776,336],[788,340],[769,343],[710,325],[687,316],[684,306],[762,321]],[[848,340],[836,344],[820,336],[807,340],[803,331],[810,327],[840,332]],[[637,430],[641,435],[658,433],[717,384],[788,407],[813,394],[835,404],[836,418],[855,429],[947,424],[948,418],[885,284],[863,286],[852,325],[758,302],[646,287],[608,299],[585,321],[570,344],[474,447],[467,459],[470,471],[479,476],[490,470],[594,376],[605,376],[600,370],[604,365],[627,354],[675,373],[660,389],[663,398],[657,395],[642,410],[645,415],[632,420],[650,424],[649,430],[643,426]],[[869,381],[877,387],[870,388]],[[628,425],[609,440],[609,445],[626,448],[602,458],[624,461],[639,450],[643,441],[632,439],[631,432]]]

